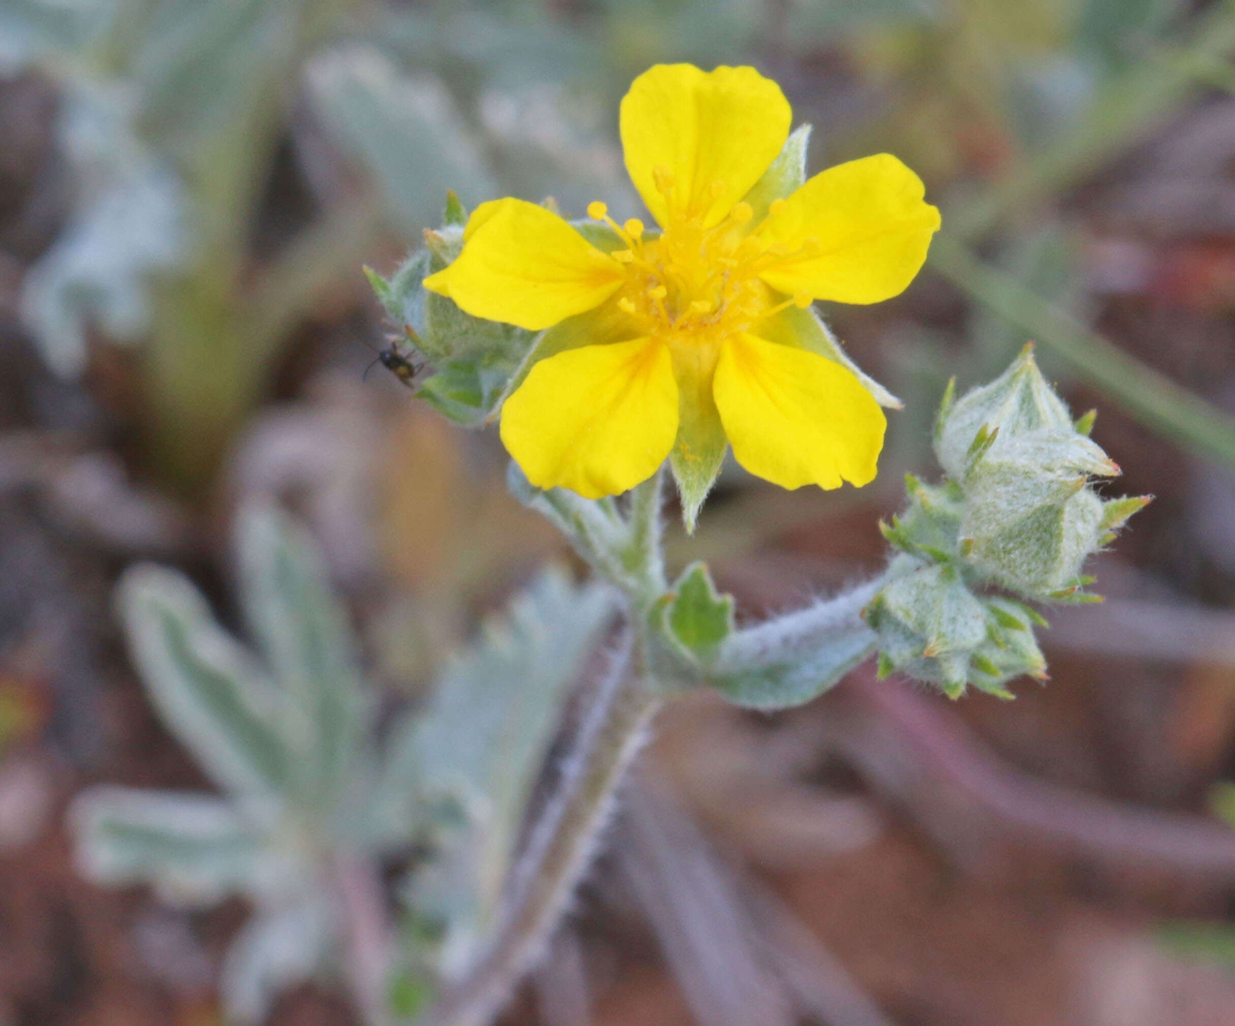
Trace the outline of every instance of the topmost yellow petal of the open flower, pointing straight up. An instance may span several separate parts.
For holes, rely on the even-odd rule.
[[[621,101],[626,170],[661,225],[698,216],[711,227],[776,159],[792,116],[781,86],[753,68],[657,64]]]

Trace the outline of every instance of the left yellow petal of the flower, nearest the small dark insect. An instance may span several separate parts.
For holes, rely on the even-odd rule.
[[[475,209],[463,252],[425,288],[466,314],[529,331],[599,306],[618,291],[622,267],[556,214],[525,200]]]

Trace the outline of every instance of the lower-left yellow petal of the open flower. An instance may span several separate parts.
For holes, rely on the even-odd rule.
[[[543,359],[501,409],[501,441],[527,479],[585,499],[650,478],[677,430],[669,349],[647,338]]]

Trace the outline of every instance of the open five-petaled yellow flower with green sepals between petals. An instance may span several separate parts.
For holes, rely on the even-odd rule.
[[[781,88],[753,68],[657,65],[621,102],[621,140],[659,232],[594,202],[588,216],[609,228],[584,237],[542,206],[495,200],[425,279],[467,314],[547,328],[501,411],[532,484],[615,495],[671,457],[693,523],[726,444],[784,488],[874,478],[874,385],[805,307],[904,290],[939,211],[888,154],[778,198],[789,125]]]

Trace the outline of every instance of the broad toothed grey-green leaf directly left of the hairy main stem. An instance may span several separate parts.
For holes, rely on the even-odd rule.
[[[415,899],[417,909],[448,910],[450,928],[464,937],[477,936],[496,910],[563,703],[615,612],[610,589],[545,572],[505,616],[485,624],[427,706],[391,731],[383,774],[391,836],[408,830],[417,798],[464,812],[454,854],[417,873]]]

